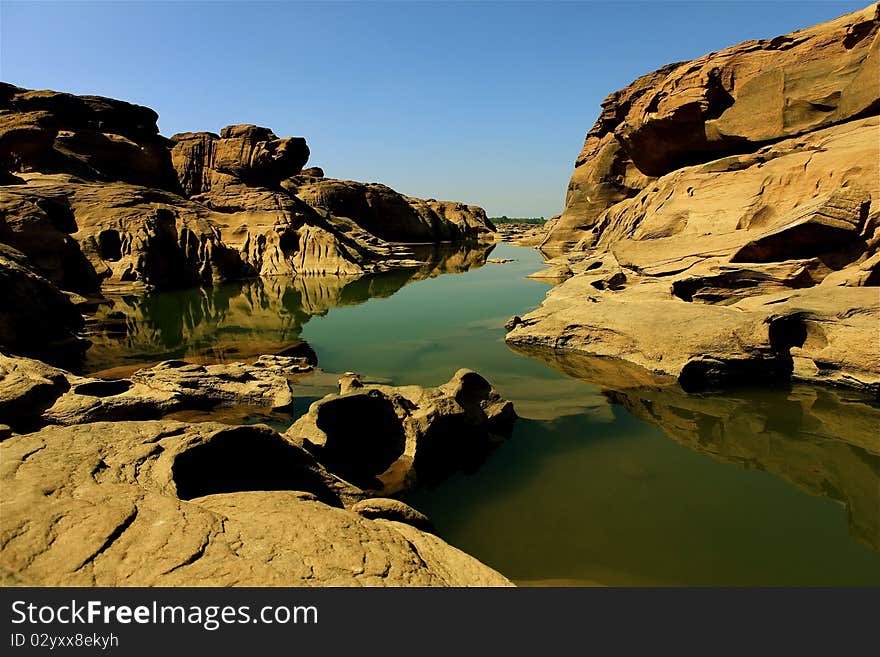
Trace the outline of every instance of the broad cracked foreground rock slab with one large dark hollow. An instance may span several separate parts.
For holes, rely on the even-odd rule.
[[[268,427],[48,427],[0,450],[5,584],[509,585],[341,508],[356,489]]]

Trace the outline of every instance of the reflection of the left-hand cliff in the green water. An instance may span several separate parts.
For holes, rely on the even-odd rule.
[[[331,309],[388,297],[408,283],[485,264],[494,244],[411,247],[418,267],[359,278],[262,278],[213,288],[110,296],[89,318],[85,373],[119,376],[169,358],[202,362],[275,354],[300,343],[303,325]],[[130,363],[122,366],[121,363]]]

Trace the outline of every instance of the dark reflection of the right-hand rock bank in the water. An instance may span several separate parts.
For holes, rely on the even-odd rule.
[[[880,552],[880,408],[868,397],[806,385],[694,395],[617,360],[515,351],[599,386],[613,404],[691,449],[843,503],[850,534]]]

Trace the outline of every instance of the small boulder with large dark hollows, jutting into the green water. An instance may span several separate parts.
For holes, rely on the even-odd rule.
[[[285,435],[340,477],[385,494],[479,465],[516,418],[470,370],[438,388],[368,385],[353,374],[339,386]]]

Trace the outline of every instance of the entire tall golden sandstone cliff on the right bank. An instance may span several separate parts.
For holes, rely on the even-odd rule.
[[[880,394],[880,5],[636,80],[603,103],[507,340],[686,389]]]

